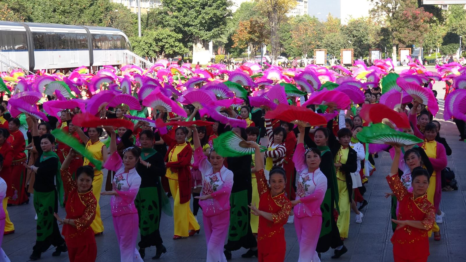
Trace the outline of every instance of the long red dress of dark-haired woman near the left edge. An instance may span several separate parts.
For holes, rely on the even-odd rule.
[[[13,149],[13,162],[11,164],[11,190],[13,190],[13,196],[8,198],[8,204],[21,205],[28,200],[26,195],[26,168],[23,165],[23,163],[26,163],[26,154],[24,153],[26,141],[23,133],[19,130],[11,132],[7,141]]]

